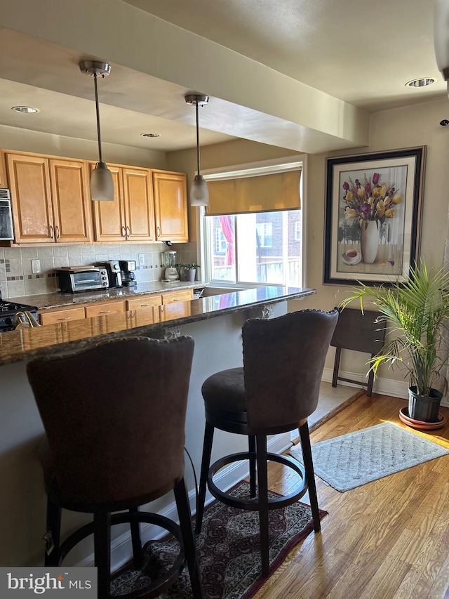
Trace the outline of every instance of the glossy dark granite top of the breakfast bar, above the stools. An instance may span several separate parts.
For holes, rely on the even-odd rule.
[[[201,284],[195,284],[194,287],[201,287]],[[170,288],[165,290],[168,289]],[[147,289],[141,293],[150,291]],[[208,320],[257,306],[263,308],[265,305],[300,299],[315,293],[315,289],[258,287],[187,302],[169,303],[155,308],[129,310],[32,329],[16,329],[0,333],[0,364],[79,350],[98,341],[121,336],[144,335],[164,338],[167,331],[182,324]]]

